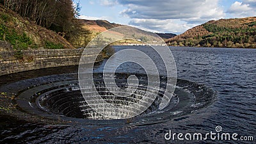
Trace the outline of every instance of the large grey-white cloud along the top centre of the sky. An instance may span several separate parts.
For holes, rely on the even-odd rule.
[[[122,15],[132,19],[183,19],[189,22],[220,19],[223,10],[218,6],[219,0],[119,0],[127,6]]]

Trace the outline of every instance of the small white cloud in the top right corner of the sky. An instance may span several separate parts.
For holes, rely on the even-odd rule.
[[[233,17],[252,17],[256,15],[256,0],[236,1],[228,9]]]

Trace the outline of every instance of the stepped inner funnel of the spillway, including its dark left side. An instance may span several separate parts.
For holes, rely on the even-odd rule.
[[[108,77],[108,74],[105,75]],[[118,118],[118,115],[122,117],[130,116],[133,113],[138,113],[141,109],[146,110],[139,114],[147,115],[161,110],[159,106],[162,99],[170,101],[170,97],[173,100],[173,105],[177,102],[177,97],[173,97],[175,94],[164,93],[166,91],[166,77],[161,77],[161,83],[157,84],[160,85],[160,89],[149,87],[147,75],[145,74],[117,73],[115,74],[115,83],[109,83],[108,88],[102,77],[102,73],[95,73],[93,74],[93,85],[90,83],[83,84],[84,95],[90,97],[91,104],[88,104],[88,101],[83,99],[77,83],[68,84],[63,86],[63,88],[57,88],[44,93],[40,96],[41,98],[38,102],[40,106],[58,115],[88,119],[111,119],[104,115],[110,115],[115,118]],[[93,86],[95,86],[96,91],[92,88]],[[116,88],[116,86],[118,87]],[[93,99],[97,98],[97,95],[100,95],[109,105],[111,104],[111,107],[106,107],[109,105],[102,104],[99,99]],[[141,101],[140,106],[138,106],[139,101]],[[92,109],[92,102],[97,105],[97,110],[100,109],[104,115],[97,113],[95,108]],[[150,103],[151,105],[147,108],[148,102],[152,102],[152,104]],[[130,109],[124,109],[132,104],[137,105],[132,106]]]

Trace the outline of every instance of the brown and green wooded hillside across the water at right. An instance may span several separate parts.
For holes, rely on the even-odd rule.
[[[166,40],[168,45],[256,48],[256,17],[211,20]]]

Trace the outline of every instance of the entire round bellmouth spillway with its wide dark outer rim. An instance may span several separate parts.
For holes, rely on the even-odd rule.
[[[135,116],[136,125],[154,124],[180,115],[186,115],[197,109],[209,106],[216,97],[216,92],[207,88],[205,85],[177,79],[177,86],[170,102],[165,108],[160,109],[159,104],[164,95],[172,94],[164,93],[166,77],[160,76],[160,88],[156,89],[148,88],[146,74],[116,73],[116,85],[126,92],[119,93],[120,95],[125,95],[125,97],[122,97],[113,95],[106,88],[106,84],[102,81],[102,76],[102,73],[93,74],[93,82],[97,93],[106,102],[115,106],[125,106],[141,100],[145,97],[145,91],[147,89],[150,89],[150,92],[156,95],[156,99],[153,100],[154,102],[152,102],[149,108],[143,111],[143,113],[140,113],[140,115]],[[138,87],[129,86],[127,82],[127,77],[129,76],[138,77]],[[90,86],[86,88],[88,88],[88,95],[95,93],[90,90]],[[116,89],[113,88],[111,91],[113,90]],[[90,122],[93,122],[92,120],[97,120],[97,122],[103,124],[105,123],[104,119],[109,119],[104,118],[104,116],[90,108],[90,105],[84,100],[76,73],[17,81],[3,86],[1,92],[16,93],[18,95],[17,105],[21,109],[20,113],[25,112],[52,120],[61,118],[63,121],[82,122],[86,124],[90,124]],[[111,113],[111,111],[106,111],[106,113]],[[124,113],[128,112],[124,111]],[[118,120],[111,121],[113,124],[118,122]]]

